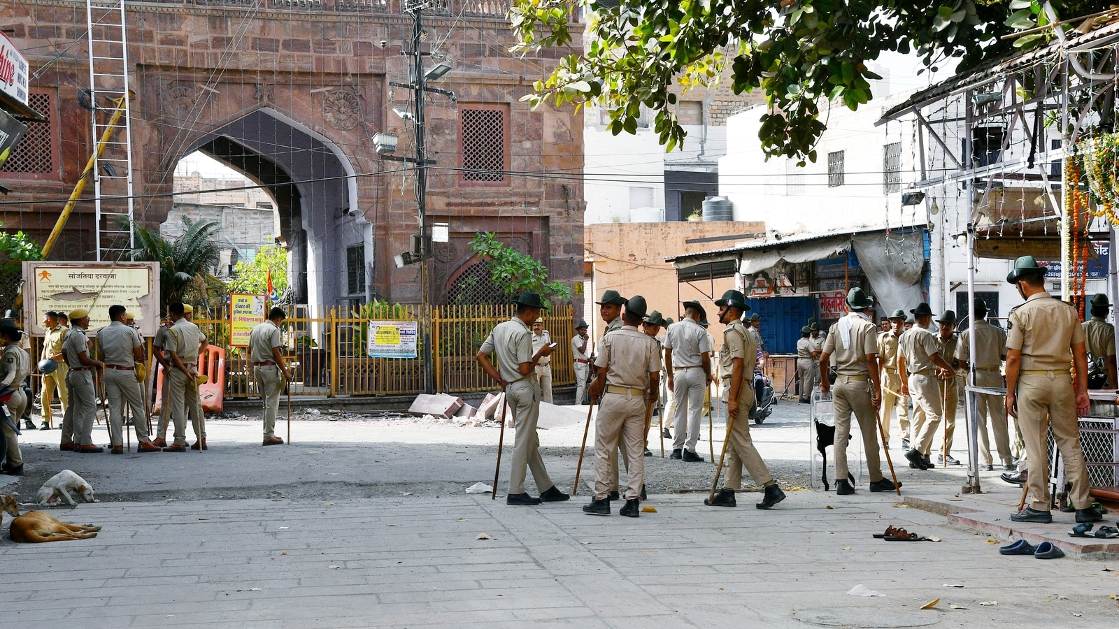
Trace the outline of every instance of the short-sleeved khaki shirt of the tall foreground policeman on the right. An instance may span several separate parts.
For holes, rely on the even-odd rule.
[[[1046,292],[1029,295],[1010,311],[1006,348],[1022,351],[1022,368],[1065,372],[1072,365],[1072,346],[1084,342],[1076,310]]]

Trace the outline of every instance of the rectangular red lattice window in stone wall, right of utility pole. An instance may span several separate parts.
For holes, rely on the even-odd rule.
[[[500,186],[508,182],[508,112],[498,106],[462,107],[462,181]]]

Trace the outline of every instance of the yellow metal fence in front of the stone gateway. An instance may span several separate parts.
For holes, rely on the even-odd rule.
[[[435,391],[467,393],[492,391],[493,382],[476,355],[493,326],[508,320],[514,307],[444,306],[430,310]],[[284,325],[284,359],[294,376],[292,395],[406,395],[423,393],[421,358],[370,358],[366,353],[369,320],[417,321],[423,356],[423,311],[417,306],[386,306],[363,311],[330,308],[318,312],[292,309]],[[571,356],[574,320],[571,306],[558,306],[543,316],[556,344],[552,354],[552,386],[571,385],[575,373]],[[255,396],[253,373],[245,348],[229,347],[229,321],[213,312],[195,319],[210,342],[226,350],[226,397]]]

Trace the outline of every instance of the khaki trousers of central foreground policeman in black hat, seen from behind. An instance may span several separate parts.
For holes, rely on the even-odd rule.
[[[702,372],[700,372],[702,373]],[[604,393],[594,420],[594,497],[604,500],[617,485],[621,449],[629,479],[626,499],[641,497],[645,484],[645,396],[636,393]]]

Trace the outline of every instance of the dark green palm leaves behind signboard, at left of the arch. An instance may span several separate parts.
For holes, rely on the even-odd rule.
[[[158,232],[135,227],[132,260],[159,262],[159,297],[162,303],[181,301],[191,287],[220,283],[207,269],[218,263],[214,236],[222,231],[216,220],[190,220],[182,217],[186,232],[168,242]]]

